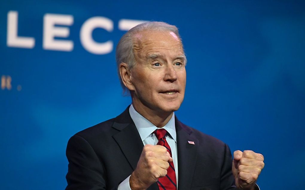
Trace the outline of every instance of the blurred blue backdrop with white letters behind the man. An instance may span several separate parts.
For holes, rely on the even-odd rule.
[[[265,156],[261,190],[303,189],[304,1],[1,1],[1,189],[64,189],[70,136],[119,115],[120,37],[180,29],[185,124]]]

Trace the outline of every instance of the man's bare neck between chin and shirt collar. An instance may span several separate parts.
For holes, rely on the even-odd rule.
[[[152,124],[159,128],[164,127],[169,122],[174,113],[155,111],[149,109],[146,106],[138,105],[134,101],[132,102],[132,105],[139,114],[141,114],[143,117],[145,117],[145,119],[149,120]]]

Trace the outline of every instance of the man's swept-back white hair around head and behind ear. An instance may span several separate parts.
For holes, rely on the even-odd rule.
[[[123,94],[125,94],[126,92],[128,94],[129,91],[123,84],[123,81],[120,77],[120,64],[126,63],[128,65],[128,69],[131,69],[133,66],[135,66],[136,60],[133,47],[136,34],[147,30],[174,32],[182,43],[178,28],[174,25],[167,24],[166,22],[145,22],[128,30],[128,32],[121,37],[116,49],[117,72],[119,75],[121,86],[123,88]]]

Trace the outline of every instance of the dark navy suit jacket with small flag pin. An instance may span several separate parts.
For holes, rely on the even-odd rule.
[[[178,190],[233,190],[232,157],[222,141],[175,117]],[[193,141],[195,144],[190,144]],[[66,190],[117,189],[136,168],[143,149],[129,107],[119,116],[76,133],[68,142]],[[159,190],[156,183],[148,190]]]

